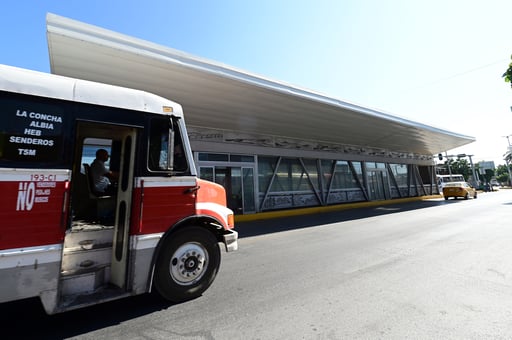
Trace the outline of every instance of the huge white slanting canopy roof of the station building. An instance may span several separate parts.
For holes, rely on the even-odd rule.
[[[475,140],[54,14],[47,35],[53,73],[169,98],[189,125],[422,155]]]

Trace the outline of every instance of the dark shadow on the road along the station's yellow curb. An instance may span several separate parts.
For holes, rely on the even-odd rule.
[[[352,221],[367,217],[394,214],[404,211],[425,209],[445,204],[452,204],[456,200],[431,199],[417,202],[385,204],[371,208],[356,208],[336,212],[307,214],[291,217],[239,222],[235,228],[240,238],[278,233],[293,229],[311,228],[324,224]]]

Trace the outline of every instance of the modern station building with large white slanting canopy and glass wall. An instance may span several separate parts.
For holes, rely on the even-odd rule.
[[[475,140],[53,14],[47,37],[52,73],[182,104],[238,214],[435,194],[433,155]]]

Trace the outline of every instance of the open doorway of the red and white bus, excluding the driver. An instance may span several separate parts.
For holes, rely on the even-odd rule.
[[[72,184],[73,220],[66,238],[69,247],[81,244],[96,250],[96,255],[84,253],[80,265],[109,268],[101,285],[113,284],[125,289],[129,247],[129,224],[133,191],[137,128],[114,124],[78,122],[77,147]],[[113,194],[95,197],[90,164],[98,149],[109,154],[105,166],[118,173]],[[82,180],[83,178],[84,180]],[[84,183],[83,185],[80,183]],[[97,193],[95,193],[97,194]],[[85,247],[84,247],[85,248]],[[101,257],[97,254],[103,253]],[[63,271],[73,264],[63,265]]]

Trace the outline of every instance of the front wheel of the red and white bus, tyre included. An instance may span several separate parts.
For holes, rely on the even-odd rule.
[[[214,235],[204,228],[190,227],[164,242],[155,266],[156,290],[172,302],[201,296],[220,266],[220,248]]]

